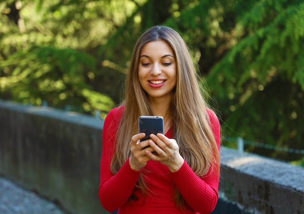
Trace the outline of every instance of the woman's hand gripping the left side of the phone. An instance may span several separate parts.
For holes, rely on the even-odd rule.
[[[147,162],[151,160],[145,153],[146,150],[153,151],[153,148],[148,147],[148,140],[139,142],[141,138],[145,137],[145,133],[135,134],[131,138],[131,156],[129,159],[129,164],[131,168],[135,171],[139,171],[141,168],[147,165]],[[148,148],[145,148],[148,147]],[[143,149],[145,148],[145,149]]]

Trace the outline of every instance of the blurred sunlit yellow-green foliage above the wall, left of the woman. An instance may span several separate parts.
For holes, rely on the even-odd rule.
[[[109,75],[92,53],[142,1],[0,3],[0,97],[107,113],[115,103],[100,82]]]

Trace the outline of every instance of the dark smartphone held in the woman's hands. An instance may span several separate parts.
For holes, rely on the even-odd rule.
[[[139,133],[145,132],[146,136],[140,141],[150,139],[150,134],[164,133],[164,118],[161,116],[139,116]]]

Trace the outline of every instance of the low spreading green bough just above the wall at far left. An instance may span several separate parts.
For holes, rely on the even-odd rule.
[[[19,102],[41,105],[45,100],[57,108],[78,106],[80,112],[108,112],[114,106],[109,97],[89,90],[83,74],[94,71],[96,60],[84,52],[33,46],[10,55],[0,67],[11,73],[0,79],[2,92],[9,90]]]

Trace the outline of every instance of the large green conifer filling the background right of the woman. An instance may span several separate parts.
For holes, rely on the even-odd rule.
[[[171,16],[161,24],[180,31],[191,45],[217,100],[210,102],[222,115],[223,135],[303,149],[303,2],[218,0],[193,1],[188,6],[181,2],[172,3]],[[118,29],[113,38],[119,35]],[[120,43],[107,45],[120,47]],[[111,60],[118,63],[114,57]],[[303,157],[246,148],[288,161]]]

